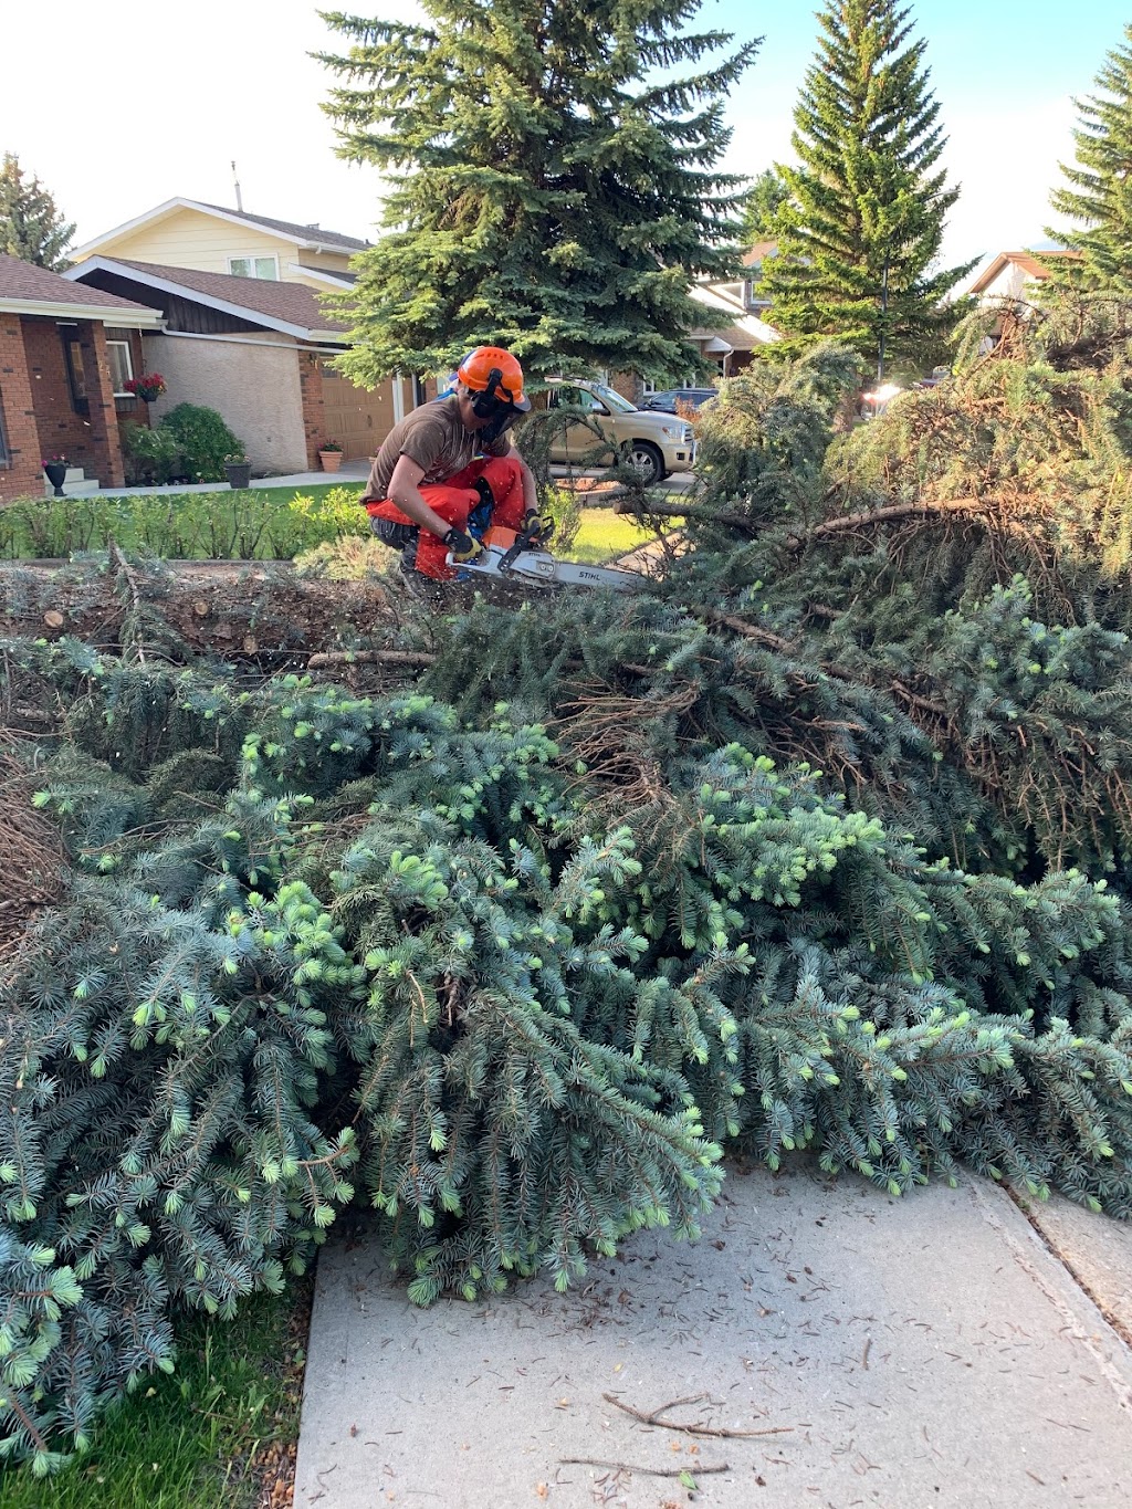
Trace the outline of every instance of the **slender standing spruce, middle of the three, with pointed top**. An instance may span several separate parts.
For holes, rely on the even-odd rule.
[[[771,320],[797,350],[815,340],[927,364],[951,324],[942,305],[974,267],[937,269],[958,198],[939,167],[945,136],[922,41],[897,0],[827,0],[780,169],[789,199],[761,281]]]

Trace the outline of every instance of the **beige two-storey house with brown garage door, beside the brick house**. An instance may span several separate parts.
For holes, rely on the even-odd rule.
[[[317,468],[321,441],[347,459],[373,456],[392,424],[424,397],[412,379],[370,392],[332,359],[346,329],[318,302],[349,288],[350,258],[367,241],[317,225],[168,199],[86,241],[66,276],[160,309],[145,361],[169,383],[154,404],[217,409],[258,474]],[[131,290],[124,293],[122,290]]]

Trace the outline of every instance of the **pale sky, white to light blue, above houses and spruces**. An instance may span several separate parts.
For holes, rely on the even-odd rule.
[[[946,166],[963,186],[943,247],[948,266],[1043,238],[1057,163],[1072,157],[1072,97],[1090,92],[1105,53],[1121,41],[1132,20],[1126,5],[913,3],[949,136]],[[232,158],[248,210],[374,234],[380,181],[334,157],[318,109],[329,75],[306,54],[334,39],[309,0],[0,6],[0,151],[15,151],[41,177],[77,220],[78,241],[175,196],[234,204]],[[409,20],[415,6],[358,0],[347,9]],[[807,0],[705,0],[690,23],[765,38],[727,109],[727,166],[738,172],[789,155],[815,9]]]

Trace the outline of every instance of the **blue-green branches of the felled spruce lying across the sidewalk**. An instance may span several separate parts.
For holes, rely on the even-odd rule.
[[[1123,344],[1043,329],[851,433],[841,353],[734,383],[655,593],[409,616],[400,690],[178,653],[143,566],[113,653],[5,644],[72,869],[0,985],[9,1459],[350,1200],[420,1302],[694,1234],[727,1145],[1132,1210]]]

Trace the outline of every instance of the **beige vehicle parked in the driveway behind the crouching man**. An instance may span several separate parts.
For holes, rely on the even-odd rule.
[[[577,407],[601,429],[611,447],[635,466],[644,486],[663,481],[669,472],[688,471],[696,444],[687,420],[664,412],[649,413],[599,382],[563,377],[549,383],[551,409]],[[601,442],[586,424],[569,424],[551,447],[552,462],[604,465]]]

